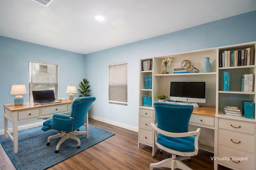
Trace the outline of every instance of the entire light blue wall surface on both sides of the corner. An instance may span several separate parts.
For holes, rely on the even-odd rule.
[[[12,84],[26,84],[28,90],[28,61],[41,61],[58,64],[60,98],[67,96],[68,85],[78,87],[87,78],[91,94],[96,96],[90,115],[121,126],[138,127],[140,59],[256,41],[255,28],[253,11],[88,55],[0,36],[0,106],[13,103]],[[108,104],[108,64],[120,62],[128,62],[128,106]],[[28,102],[28,95],[23,96]],[[3,123],[0,109],[0,129],[4,128]]]

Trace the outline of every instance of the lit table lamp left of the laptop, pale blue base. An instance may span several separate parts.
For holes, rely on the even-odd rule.
[[[21,94],[27,94],[26,86],[25,84],[14,84],[12,85],[11,89],[11,95],[18,95],[14,98],[14,104],[15,105],[23,105],[23,97],[20,96]]]

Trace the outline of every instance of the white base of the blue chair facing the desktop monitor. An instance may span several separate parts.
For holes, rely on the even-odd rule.
[[[172,170],[174,170],[175,168],[179,168],[182,170],[192,170],[191,168],[186,166],[186,164],[181,162],[182,160],[186,160],[190,158],[191,158],[190,156],[182,156],[182,157],[176,158],[176,155],[172,154],[172,158],[167,158],[160,162],[150,164],[150,170],[153,170],[154,168],[159,168],[159,167],[172,168]]]

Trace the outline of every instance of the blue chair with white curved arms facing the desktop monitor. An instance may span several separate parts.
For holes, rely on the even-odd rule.
[[[157,123],[151,123],[154,129],[156,146],[172,154],[157,163],[150,164],[150,169],[156,167],[180,168],[192,170],[182,160],[191,159],[198,154],[200,128],[188,132],[188,122],[193,112],[193,106],[188,104],[172,104],[154,102]],[[176,157],[179,155],[181,157]]]

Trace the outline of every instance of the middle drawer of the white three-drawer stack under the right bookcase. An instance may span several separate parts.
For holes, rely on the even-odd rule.
[[[255,153],[255,136],[219,129],[218,144]]]

